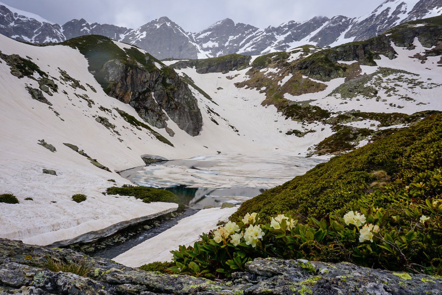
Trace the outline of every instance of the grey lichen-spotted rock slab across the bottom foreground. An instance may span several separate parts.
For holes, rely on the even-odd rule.
[[[53,272],[48,258],[84,264],[86,276]],[[128,268],[69,249],[0,239],[0,294],[441,294],[442,277],[364,268],[349,263],[255,259],[232,282]]]

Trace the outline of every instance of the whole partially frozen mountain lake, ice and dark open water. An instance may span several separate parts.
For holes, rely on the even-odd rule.
[[[226,153],[164,161],[121,175],[141,186],[167,188],[183,203],[202,209],[242,203],[322,162],[289,154]]]

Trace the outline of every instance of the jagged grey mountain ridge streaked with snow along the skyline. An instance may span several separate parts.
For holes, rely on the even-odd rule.
[[[85,34],[101,34],[136,45],[159,59],[196,59],[233,53],[259,55],[305,44],[325,47],[366,40],[400,23],[440,15],[442,0],[386,0],[359,18],[316,16],[304,22],[289,21],[263,29],[224,19],[198,33],[186,32],[167,17],[128,29],[88,23],[84,19],[73,19],[60,26],[21,13],[0,3],[0,33],[36,43],[63,42]],[[19,21],[14,22],[13,18]]]

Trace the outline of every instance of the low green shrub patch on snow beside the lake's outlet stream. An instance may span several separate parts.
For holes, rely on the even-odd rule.
[[[184,209],[184,204],[178,197],[169,191],[159,188],[138,187],[131,184],[123,184],[122,188],[112,187],[106,190],[108,195],[127,195],[137,199],[142,199],[144,203],[166,202],[177,203],[180,210]]]

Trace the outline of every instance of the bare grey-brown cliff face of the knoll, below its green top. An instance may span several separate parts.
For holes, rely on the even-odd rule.
[[[111,85],[107,94],[129,103],[149,124],[165,128],[169,117],[192,136],[201,131],[202,115],[197,100],[172,69],[147,71],[138,65],[111,60],[103,66],[101,73],[104,82]]]

